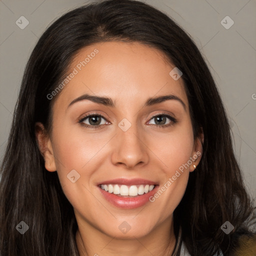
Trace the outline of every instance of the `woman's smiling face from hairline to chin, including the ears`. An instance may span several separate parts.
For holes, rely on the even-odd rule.
[[[52,93],[45,168],[57,171],[78,226],[142,237],[170,223],[201,154],[173,68],[140,43],[93,44]]]

